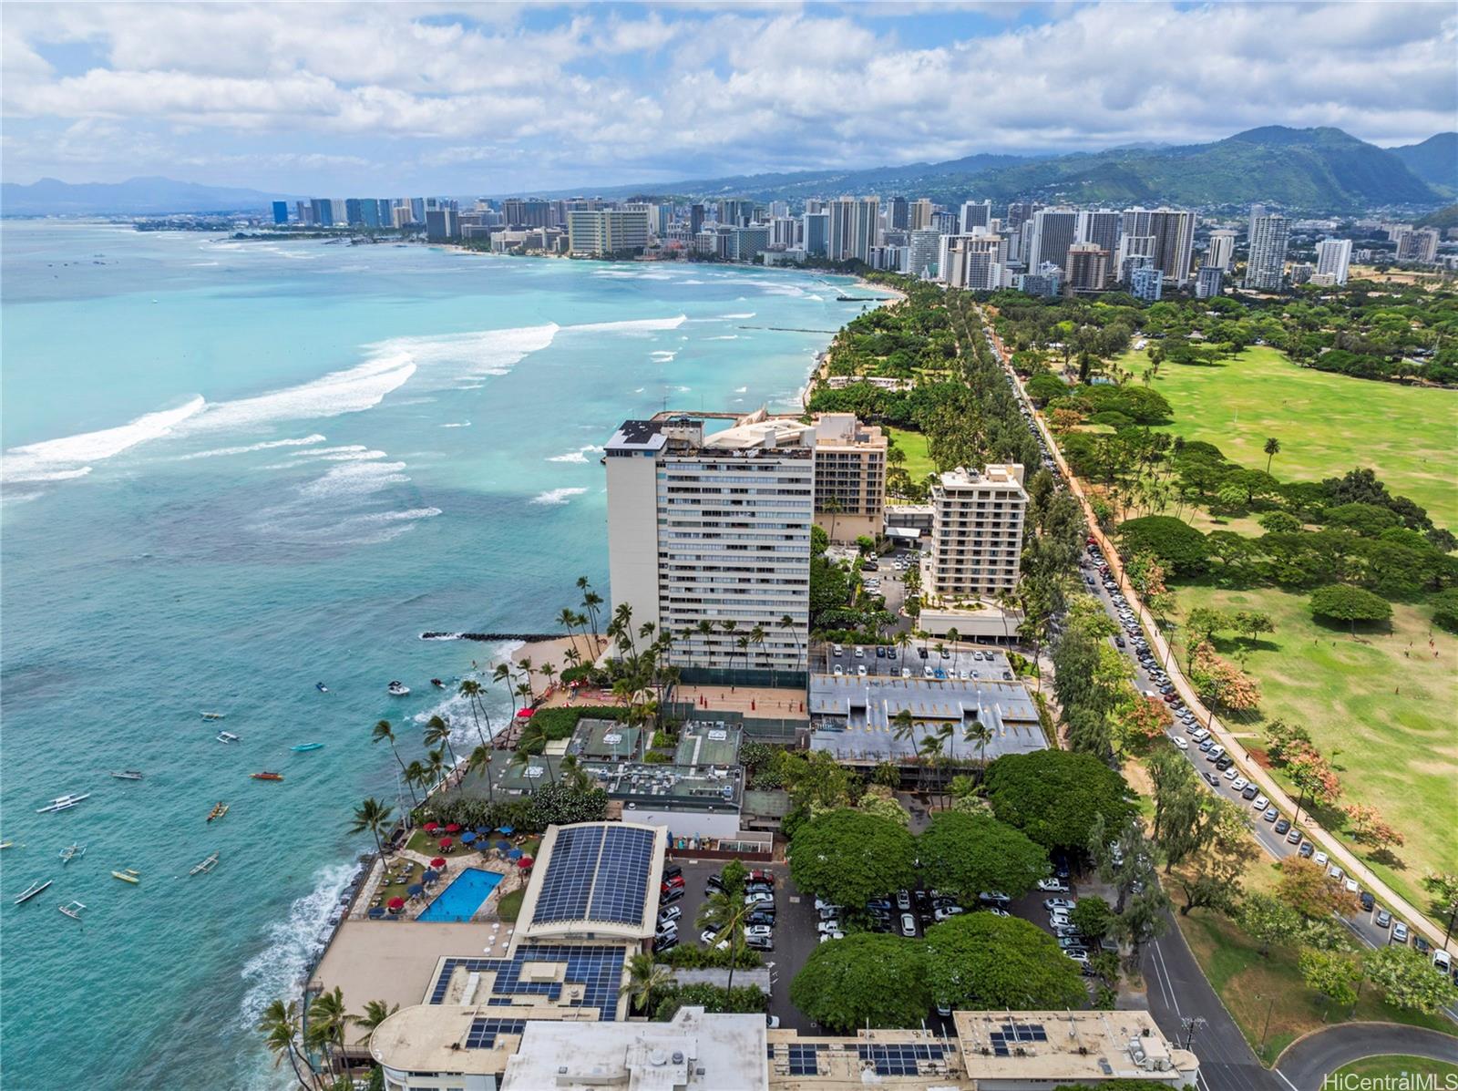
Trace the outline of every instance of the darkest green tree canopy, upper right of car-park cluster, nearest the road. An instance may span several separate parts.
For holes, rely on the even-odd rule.
[[[1000,821],[1045,849],[1082,850],[1098,815],[1120,830],[1136,811],[1123,776],[1067,750],[1005,754],[987,767],[986,792]]]

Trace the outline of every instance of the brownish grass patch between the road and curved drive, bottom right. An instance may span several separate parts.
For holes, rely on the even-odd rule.
[[[1255,942],[1228,917],[1209,910],[1196,909],[1190,916],[1177,912],[1175,919],[1204,976],[1251,1049],[1267,1065],[1302,1034],[1333,1022],[1406,1022],[1445,1034],[1452,1031],[1452,1024],[1442,1015],[1394,1008],[1371,985],[1363,986],[1354,1011],[1328,1009],[1325,999],[1302,982],[1293,950],[1273,948],[1270,955],[1263,957]]]

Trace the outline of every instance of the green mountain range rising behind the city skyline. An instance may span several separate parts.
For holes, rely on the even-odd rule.
[[[1432,175],[1430,181],[1441,184],[1446,139],[1458,137],[1441,134],[1407,149],[1385,150],[1340,128],[1267,125],[1210,144],[1115,147],[1038,158],[977,155],[866,171],[736,175],[652,190],[618,187],[604,195],[652,191],[793,201],[808,195],[876,193],[930,197],[946,204],[1035,198],[1196,207],[1242,207],[1258,201],[1308,213],[1353,213],[1391,204],[1441,204],[1445,193],[1424,178]],[[1455,169],[1454,162],[1446,166],[1449,172]]]

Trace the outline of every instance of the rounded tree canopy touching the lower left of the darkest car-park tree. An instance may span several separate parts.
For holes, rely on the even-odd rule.
[[[917,839],[927,885],[954,890],[964,901],[980,891],[1025,894],[1048,874],[1048,853],[1021,830],[987,814],[940,811]]]

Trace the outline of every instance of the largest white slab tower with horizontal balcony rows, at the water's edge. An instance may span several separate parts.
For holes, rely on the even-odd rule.
[[[757,627],[755,667],[803,671],[814,427],[763,410],[713,436],[687,417],[628,420],[605,461],[612,611],[674,634],[685,672],[749,667],[739,639]]]

